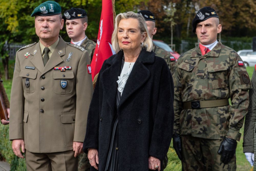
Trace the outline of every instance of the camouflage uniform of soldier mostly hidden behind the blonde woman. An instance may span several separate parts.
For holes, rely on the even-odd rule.
[[[153,43],[153,51],[155,52],[156,56],[165,59],[167,65],[172,73],[175,68],[176,61],[175,60],[171,61],[170,57],[172,57],[172,55],[170,54],[170,52],[167,52],[165,49],[162,49],[161,47],[156,46],[154,43]]]

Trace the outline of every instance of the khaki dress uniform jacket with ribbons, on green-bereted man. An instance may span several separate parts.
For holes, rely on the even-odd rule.
[[[60,37],[45,67],[39,43],[16,53],[10,140],[24,139],[25,148],[34,153],[68,151],[73,149],[73,141],[83,142],[93,87],[87,71],[88,52],[81,49]],[[28,58],[24,57],[26,53],[30,54]],[[72,68],[61,72],[54,67]],[[67,81],[65,89],[61,87],[62,79]]]

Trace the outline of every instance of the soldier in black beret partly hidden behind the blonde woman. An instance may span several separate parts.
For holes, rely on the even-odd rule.
[[[152,12],[146,11],[146,10],[141,10],[138,12],[138,14],[141,14],[146,20],[148,33],[151,39],[153,40],[153,36],[156,34],[156,31],[157,31],[155,15]],[[170,52],[167,52],[161,47],[156,46],[154,43],[153,43],[153,51],[155,52],[156,56],[165,59],[172,73],[176,62],[175,62],[175,58],[170,54]]]

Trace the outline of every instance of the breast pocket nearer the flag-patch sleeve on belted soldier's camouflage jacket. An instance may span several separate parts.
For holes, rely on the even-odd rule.
[[[209,80],[212,82],[212,88],[224,88],[228,86],[228,64],[227,63],[207,63]]]

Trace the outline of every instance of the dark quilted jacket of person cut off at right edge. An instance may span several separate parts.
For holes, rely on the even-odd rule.
[[[244,123],[244,142],[243,152],[254,153],[254,161],[256,161],[256,71],[254,70],[252,76],[252,89],[249,90],[250,104],[248,113],[245,116]],[[256,162],[254,162],[254,171],[256,171]]]

